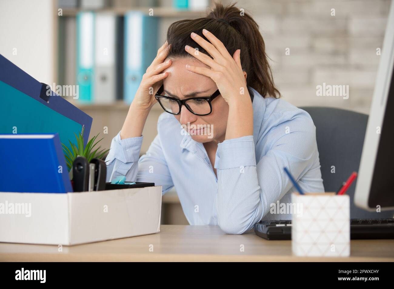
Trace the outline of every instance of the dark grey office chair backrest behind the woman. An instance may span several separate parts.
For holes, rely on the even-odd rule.
[[[368,115],[330,107],[301,107],[316,126],[325,191],[338,191],[353,171],[358,172]],[[372,164],[371,164],[372,165]],[[357,179],[356,179],[357,181]],[[346,192],[352,219],[392,218],[394,211],[367,212],[354,204],[355,182]]]

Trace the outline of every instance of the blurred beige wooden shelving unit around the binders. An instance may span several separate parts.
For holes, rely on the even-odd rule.
[[[56,1],[57,2],[57,1]],[[217,0],[216,0],[217,2]],[[171,3],[167,1],[167,4]],[[129,11],[140,11],[142,13],[146,13],[149,15],[149,12],[151,12],[150,9],[153,9],[153,16],[154,17],[159,17],[160,18],[160,24],[159,24],[159,43],[163,43],[165,40],[165,32],[167,31],[168,26],[181,19],[189,19],[189,18],[199,18],[199,17],[205,17],[207,15],[208,10],[210,7],[212,7],[212,1],[210,1],[210,6],[206,7],[206,9],[201,9],[201,10],[187,10],[187,9],[176,9],[171,6],[165,6],[165,7],[106,7],[103,9],[82,9],[82,8],[76,8],[76,9],[71,9],[71,8],[62,8],[62,16],[64,17],[63,19],[60,17],[56,16],[56,21],[65,21],[67,18],[75,18],[76,15],[79,12],[82,11],[93,11],[97,13],[111,13],[115,14],[119,17],[124,17],[126,13]],[[165,4],[165,5],[167,5]],[[171,5],[171,4],[170,4]],[[57,7],[57,6],[56,6]],[[64,22],[63,22],[64,24]],[[62,49],[62,42],[61,40],[66,41],[66,35],[65,33],[66,30],[63,30],[61,28],[61,25],[57,25],[57,30],[56,30],[56,37],[59,39],[59,48],[57,50],[57,57],[59,63],[58,63],[58,77],[57,77],[57,83],[60,85],[74,85],[76,84],[75,80],[73,81],[74,83],[69,83],[71,82],[74,77],[71,77],[70,75],[67,76],[66,80],[66,74],[65,74],[65,66],[70,65],[67,63],[67,61],[76,61],[75,59],[72,59],[72,57],[76,57],[76,51],[74,51],[74,55],[71,55],[71,57],[63,55],[62,53],[65,53],[65,51],[61,50]],[[64,37],[64,39],[61,39]],[[59,58],[60,56],[60,58]],[[72,64],[74,65],[74,64]],[[63,69],[63,70],[62,70]],[[76,69],[71,69],[69,71],[76,71]],[[123,77],[123,75],[121,76]],[[108,104],[97,104],[97,103],[91,103],[91,104],[85,104],[81,103],[78,100],[74,99],[67,99],[70,101],[73,105],[81,109],[82,111],[86,112],[93,118],[93,124],[91,128],[91,133],[90,136],[96,135],[100,133],[100,137],[104,137],[104,139],[101,142],[102,147],[110,147],[112,138],[120,131],[123,122],[126,118],[126,115],[128,113],[128,109],[130,107],[129,104],[124,103],[123,101],[119,100],[114,103],[108,103]],[[149,145],[151,144],[152,140],[157,134],[156,131],[156,124],[158,117],[160,114],[162,114],[164,110],[158,103],[152,107],[151,112],[149,113],[149,116],[147,118],[145,128],[143,130],[143,144],[141,147],[141,154],[144,154],[147,149],[149,148]],[[108,134],[103,134],[103,128],[108,127]]]

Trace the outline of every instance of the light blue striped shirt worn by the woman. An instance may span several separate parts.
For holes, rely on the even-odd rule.
[[[154,182],[163,194],[173,186],[190,225],[219,225],[242,234],[264,220],[291,219],[272,214],[271,204],[291,203],[296,191],[287,167],[305,192],[323,192],[315,126],[309,114],[282,99],[253,90],[253,136],[219,143],[212,169],[204,145],[181,134],[178,120],[160,115],[147,153],[139,158],[142,138],[121,140],[118,133],[107,156],[107,182]]]

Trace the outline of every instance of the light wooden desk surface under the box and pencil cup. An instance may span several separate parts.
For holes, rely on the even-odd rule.
[[[56,245],[0,243],[0,261],[394,261],[394,240],[352,240],[350,250],[350,257],[296,257],[291,241],[268,241],[253,230],[228,235],[218,226],[161,225],[158,234],[63,246],[62,252]]]

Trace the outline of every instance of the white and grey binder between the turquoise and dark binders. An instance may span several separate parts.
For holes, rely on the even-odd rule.
[[[116,100],[116,15],[95,15],[95,103],[113,103]]]

